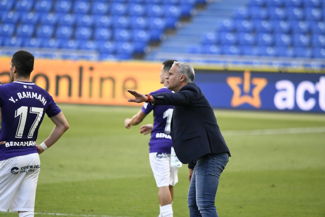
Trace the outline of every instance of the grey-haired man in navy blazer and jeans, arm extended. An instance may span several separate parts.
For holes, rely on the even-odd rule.
[[[171,136],[178,159],[188,163],[189,216],[218,216],[214,200],[220,174],[230,156],[229,149],[209,101],[193,83],[193,67],[175,61],[166,79],[167,88],[175,93],[144,95],[127,90],[135,96],[128,101],[174,105]]]

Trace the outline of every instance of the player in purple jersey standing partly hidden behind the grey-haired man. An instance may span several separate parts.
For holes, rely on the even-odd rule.
[[[175,60],[166,60],[162,63],[160,72],[160,83],[163,88],[151,92],[162,93],[172,92],[166,88],[166,75],[172,67]],[[144,103],[141,110],[132,118],[126,118],[124,125],[127,129],[131,125],[139,124],[153,110],[154,121],[152,124],[143,125],[140,127],[141,133],[151,132],[149,141],[149,162],[158,187],[158,199],[160,203],[159,217],[172,217],[173,208],[172,201],[174,197],[174,185],[178,182],[178,168],[170,167],[170,153],[173,146],[170,136],[170,121],[173,114],[173,106],[171,105],[150,105]]]

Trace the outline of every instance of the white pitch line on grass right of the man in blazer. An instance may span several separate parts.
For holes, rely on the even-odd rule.
[[[295,133],[321,133],[325,132],[325,127],[306,128],[284,128],[284,129],[252,129],[252,130],[223,130],[224,136],[241,135],[272,135],[272,134],[295,134]]]

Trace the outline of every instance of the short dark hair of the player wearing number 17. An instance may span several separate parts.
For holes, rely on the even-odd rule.
[[[31,75],[34,68],[34,56],[25,50],[19,50],[11,59],[12,66],[18,70],[18,74],[24,77]]]

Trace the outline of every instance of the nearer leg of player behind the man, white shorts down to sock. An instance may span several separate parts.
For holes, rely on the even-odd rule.
[[[172,196],[169,191],[170,160],[165,153],[149,153],[149,161],[158,187],[160,216],[172,217]]]

